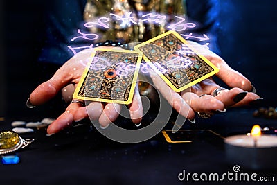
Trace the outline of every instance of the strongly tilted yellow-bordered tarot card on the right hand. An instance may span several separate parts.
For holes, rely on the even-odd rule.
[[[213,76],[217,67],[177,32],[170,30],[134,47],[163,80],[177,92]]]

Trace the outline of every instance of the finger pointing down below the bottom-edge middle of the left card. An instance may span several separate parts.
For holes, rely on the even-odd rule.
[[[117,103],[107,103],[99,118],[102,127],[107,127],[110,123],[116,121],[121,111],[121,105]]]

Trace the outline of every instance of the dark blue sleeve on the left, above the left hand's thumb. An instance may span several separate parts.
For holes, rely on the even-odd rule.
[[[70,40],[77,35],[83,24],[83,10],[86,0],[48,1],[45,10],[46,38],[39,55],[39,62],[64,64],[73,56],[67,47]],[[81,43],[79,43],[80,45]],[[82,44],[85,44],[82,42]],[[78,46],[78,43],[76,43]]]

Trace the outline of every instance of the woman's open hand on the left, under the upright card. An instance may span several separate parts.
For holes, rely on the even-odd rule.
[[[102,46],[102,48],[105,48],[105,46]],[[111,49],[111,47],[108,47],[108,49]],[[27,105],[29,107],[42,105],[69,84],[76,87],[87,64],[86,61],[90,58],[92,52],[93,50],[84,50],[68,60],[50,80],[39,85],[30,94]],[[73,103],[69,104],[65,112],[48,126],[47,133],[55,134],[65,127],[69,127],[74,121],[78,122],[87,117],[99,121],[102,127],[107,127],[119,116],[120,109],[121,105],[116,103],[91,102],[84,106],[83,100],[73,100]],[[141,122],[143,110],[138,87],[135,88],[132,103],[129,105],[129,113],[135,124]]]

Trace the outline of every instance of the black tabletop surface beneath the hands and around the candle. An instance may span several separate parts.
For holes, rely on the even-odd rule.
[[[255,109],[228,109],[209,119],[197,118],[194,125],[186,121],[183,129],[213,130],[226,137],[247,134],[254,124],[277,127],[274,119],[253,117]],[[41,119],[35,116],[5,118],[0,121],[1,130],[12,129],[10,123],[15,120]],[[168,143],[160,132],[141,143],[118,143],[100,134],[89,120],[52,136],[46,136],[45,129],[19,135],[35,141],[28,148],[17,150],[19,164],[0,164],[1,184],[199,184],[192,179],[181,182],[177,176],[183,170],[199,174],[233,172],[235,165],[239,165],[243,173],[257,173],[258,177],[277,180],[277,169],[252,170],[226,161],[223,139],[211,141],[202,137],[192,143]],[[272,162],[276,163],[276,159]],[[246,182],[225,180],[224,183]]]

